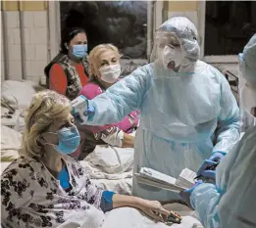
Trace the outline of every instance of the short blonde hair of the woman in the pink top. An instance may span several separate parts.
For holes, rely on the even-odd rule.
[[[95,61],[96,58],[101,55],[103,52],[111,50],[114,53],[117,54],[117,57],[120,59],[121,58],[121,54],[119,53],[119,49],[114,46],[113,44],[100,44],[97,45],[96,47],[94,47],[88,56],[88,62],[89,62],[89,76],[90,76],[90,80],[94,79],[94,75],[92,73],[92,68],[95,68]]]

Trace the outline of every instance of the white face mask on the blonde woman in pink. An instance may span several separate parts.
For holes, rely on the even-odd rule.
[[[104,68],[99,68],[101,79],[107,83],[115,83],[120,77],[120,65],[110,65]]]

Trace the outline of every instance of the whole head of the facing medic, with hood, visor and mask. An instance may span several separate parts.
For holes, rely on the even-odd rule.
[[[186,18],[175,17],[168,20],[155,33],[150,62],[165,69],[193,72],[200,55],[196,37],[194,24]]]

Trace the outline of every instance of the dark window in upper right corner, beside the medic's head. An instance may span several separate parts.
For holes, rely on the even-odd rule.
[[[206,2],[205,55],[237,55],[255,32],[255,1]]]

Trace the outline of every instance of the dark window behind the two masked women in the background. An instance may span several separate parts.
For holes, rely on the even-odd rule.
[[[61,2],[61,23],[85,28],[89,51],[113,43],[128,58],[146,58],[147,2]]]

